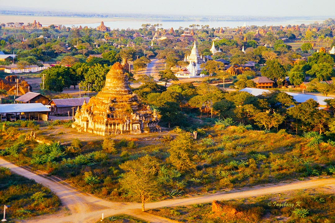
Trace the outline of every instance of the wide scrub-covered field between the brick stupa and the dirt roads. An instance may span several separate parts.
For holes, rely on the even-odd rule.
[[[310,176],[327,177],[335,173],[335,143],[331,140],[315,141],[284,130],[271,133],[252,130],[252,126],[225,127],[213,122],[213,119],[203,118],[197,124],[198,139],[193,141],[191,148],[192,166],[185,172],[179,171],[169,159],[170,142],[184,132],[179,128],[152,135],[107,138],[105,142],[113,146],[103,148],[104,137],[96,136],[92,141],[92,136],[76,133],[62,124],[44,127],[41,124],[37,128],[22,122],[0,132],[0,152],[18,165],[29,165],[56,175],[85,192],[118,201],[128,200],[120,198],[123,192],[118,179],[124,172],[119,165],[146,154],[157,157],[161,165],[158,180],[162,190],[155,199],[214,193]],[[32,130],[41,140],[54,143],[38,144],[29,139]],[[82,138],[71,139],[76,134]]]

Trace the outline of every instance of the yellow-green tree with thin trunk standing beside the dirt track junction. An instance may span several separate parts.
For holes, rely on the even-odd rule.
[[[159,194],[157,183],[159,160],[145,155],[136,160],[128,160],[119,166],[126,172],[119,180],[122,190],[126,191],[128,196],[140,199],[142,211],[145,211],[144,202]]]

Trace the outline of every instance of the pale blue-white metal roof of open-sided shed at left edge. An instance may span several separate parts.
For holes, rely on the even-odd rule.
[[[18,113],[18,112],[50,112],[42,103],[31,104],[2,104],[0,113]]]

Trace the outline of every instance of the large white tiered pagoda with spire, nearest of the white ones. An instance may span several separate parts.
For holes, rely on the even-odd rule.
[[[194,78],[194,77],[200,77],[200,73],[202,71],[202,68],[200,68],[200,65],[205,62],[205,56],[202,57],[202,55],[199,56],[197,46],[194,41],[193,48],[191,50],[191,54],[185,56],[184,61],[189,62],[190,64],[187,66],[187,70],[190,72],[188,74],[187,78]]]

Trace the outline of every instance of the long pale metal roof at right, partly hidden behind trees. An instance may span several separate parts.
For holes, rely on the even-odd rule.
[[[270,92],[270,90],[266,89],[259,89],[259,88],[244,88],[240,91],[248,92],[254,96],[258,96],[263,94],[264,92]],[[325,97],[319,95],[310,95],[310,94],[300,94],[300,93],[293,93],[293,92],[285,92],[288,95],[291,95],[293,99],[298,103],[303,103],[308,99],[313,99],[314,101],[318,102],[319,105],[326,106],[327,103],[324,101],[325,99],[334,99],[333,97]]]

